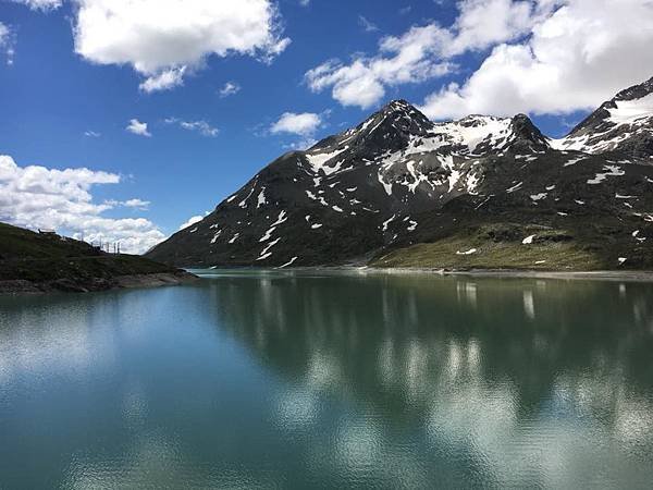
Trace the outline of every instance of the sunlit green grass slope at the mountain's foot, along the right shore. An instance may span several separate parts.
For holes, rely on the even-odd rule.
[[[458,220],[422,243],[404,244],[372,259],[382,268],[446,270],[652,270],[653,256],[630,233],[609,231],[591,222],[478,223]],[[527,243],[523,243],[525,238]],[[620,258],[626,258],[621,261]]]

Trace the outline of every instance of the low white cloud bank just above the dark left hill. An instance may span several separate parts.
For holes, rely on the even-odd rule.
[[[20,167],[13,158],[0,156],[0,221],[32,230],[56,229],[87,241],[120,241],[124,252],[144,253],[163,240],[163,233],[144,218],[104,217],[114,201],[96,204],[90,193],[96,185],[118,183],[120,175],[114,173]],[[131,199],[122,205],[127,203],[147,201]]]

